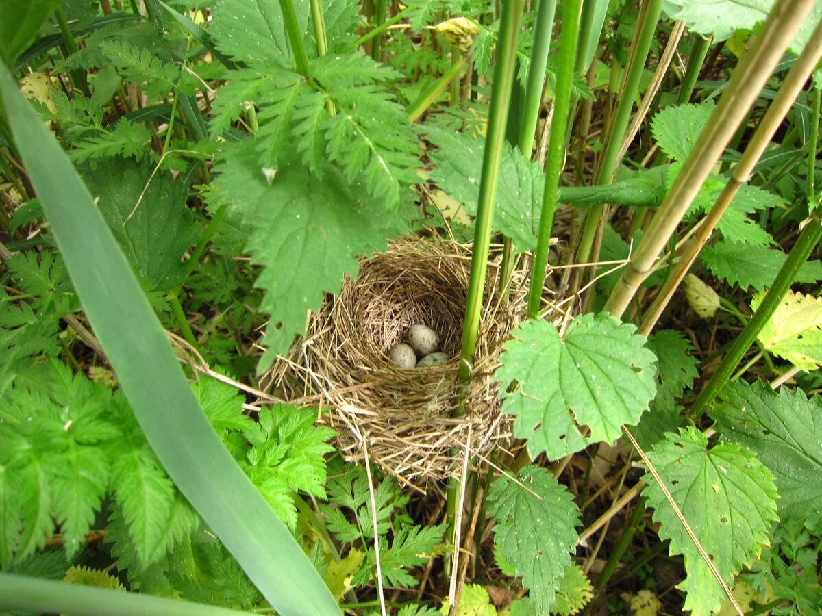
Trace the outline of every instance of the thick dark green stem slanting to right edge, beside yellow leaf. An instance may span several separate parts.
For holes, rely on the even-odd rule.
[[[782,303],[785,294],[797,278],[799,270],[808,260],[810,252],[813,251],[820,239],[822,239],[822,222],[819,218],[810,218],[805,228],[802,229],[797,243],[794,244],[791,252],[787,255],[787,260],[779,269],[779,273],[774,279],[774,285],[769,288],[759,308],[739,333],[737,339],[733,341],[717,371],[700,392],[699,398],[696,398],[696,401],[690,407],[688,415],[692,421],[699,419],[708,405],[713,402],[713,398],[716,398],[719,389],[727,382],[728,377],[737,367],[742,356],[745,355],[750,345],[755,341],[756,336],[762,331],[771,316],[774,315],[779,304]]]

